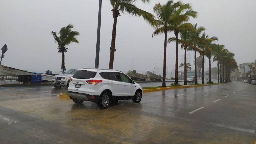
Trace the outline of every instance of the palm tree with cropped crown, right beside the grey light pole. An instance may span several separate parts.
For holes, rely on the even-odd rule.
[[[143,17],[147,22],[149,22],[153,27],[155,27],[154,16],[151,13],[148,13],[144,10],[139,9],[134,4],[138,1],[143,3],[149,3],[150,0],[109,0],[113,9],[112,15],[114,18],[113,30],[112,30],[112,39],[111,39],[111,49],[110,49],[110,59],[109,59],[109,69],[113,69],[114,64],[114,53],[115,53],[115,43],[116,43],[116,26],[117,26],[117,17],[121,16],[120,14],[129,14],[131,16]]]

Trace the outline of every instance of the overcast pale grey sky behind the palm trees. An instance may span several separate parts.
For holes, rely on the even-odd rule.
[[[155,3],[137,6],[153,13]],[[65,53],[67,69],[94,67],[98,19],[98,0],[0,0],[0,46],[5,43],[8,51],[2,64],[22,70],[43,72],[61,70],[61,54],[57,53],[51,31],[59,31],[68,24],[80,32],[79,44],[71,44]],[[217,36],[217,43],[224,44],[235,53],[238,63],[252,62],[255,48],[255,0],[182,0],[191,3],[199,13],[191,23],[207,28],[206,33]],[[102,3],[100,68],[108,68],[113,26],[111,5]],[[121,14],[117,20],[116,53],[114,69],[124,72],[153,71],[163,66],[164,36],[152,38],[153,29],[142,18]],[[174,36],[168,33],[168,37]],[[181,56],[183,50],[179,51]],[[175,66],[175,44],[167,45],[167,66]],[[213,65],[215,66],[215,65]],[[208,59],[205,67],[208,68]]]

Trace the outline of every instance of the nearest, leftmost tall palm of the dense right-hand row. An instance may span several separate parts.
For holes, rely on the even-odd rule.
[[[167,33],[172,31],[170,23],[173,20],[173,13],[176,8],[180,7],[182,3],[180,1],[173,3],[172,0],[168,0],[166,4],[155,4],[153,11],[157,16],[156,24],[157,29],[153,32],[152,36],[156,36],[164,33],[164,61],[163,61],[163,83],[162,87],[166,87],[166,47],[167,47]]]

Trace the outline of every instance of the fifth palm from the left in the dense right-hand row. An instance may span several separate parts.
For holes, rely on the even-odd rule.
[[[209,46],[215,40],[218,40],[218,38],[215,36],[209,38],[208,35],[203,33],[201,36],[201,40],[198,43],[199,48],[202,50],[202,54],[201,54],[201,56],[202,56],[202,84],[204,84],[204,56],[207,51],[211,51],[211,48]]]

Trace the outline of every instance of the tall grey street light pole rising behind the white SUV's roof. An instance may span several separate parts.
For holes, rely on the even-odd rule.
[[[98,30],[97,30],[97,42],[96,42],[95,68],[99,68],[101,5],[102,5],[102,0],[99,0],[99,15],[98,15]]]

